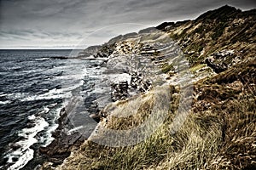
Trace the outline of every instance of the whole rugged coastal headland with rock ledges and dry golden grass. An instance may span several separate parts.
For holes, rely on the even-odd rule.
[[[99,111],[98,129],[137,127],[148,116],[156,114],[155,99],[171,106],[166,111],[164,123],[141,143],[113,148],[88,139],[79,149],[73,150],[72,156],[58,169],[255,168],[255,19],[255,9],[242,12],[224,6],[201,14],[196,20],[156,26],[161,33],[149,28],[85,49],[80,57],[93,56],[101,60],[101,67],[115,63],[119,68],[126,68],[124,65],[134,64],[138,58],[148,59],[147,65],[153,63],[157,69],[148,67],[145,71],[160,71],[150,77],[154,80],[161,77],[160,82],[164,83],[158,85],[169,86],[168,101],[167,97],[153,98],[157,91],[152,88],[154,81],[148,82],[140,75],[141,70],[131,64],[125,70],[131,81],[113,84],[112,100],[115,102]],[[191,108],[183,126],[171,133],[173,120],[183,114],[177,111],[183,99],[183,89],[177,84],[177,74],[183,73],[177,72],[175,59],[179,54],[184,54],[185,60],[189,61],[178,60],[180,65],[189,65],[192,75],[188,77],[192,77],[194,88],[190,96]],[[130,93],[132,90],[136,95]],[[132,112],[134,105],[139,105],[137,113],[118,117],[125,111]],[[97,138],[106,139],[106,136],[103,133]],[[49,165],[43,168],[49,168]]]

